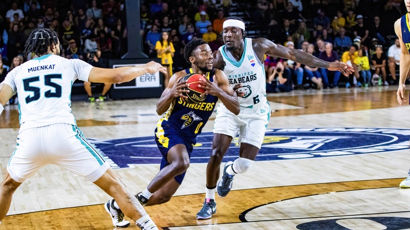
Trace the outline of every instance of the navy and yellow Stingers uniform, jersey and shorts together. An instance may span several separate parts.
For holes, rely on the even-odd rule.
[[[187,74],[193,73],[192,68],[187,68]],[[207,78],[212,82],[215,70],[208,73]],[[193,146],[196,144],[196,136],[202,131],[209,117],[218,102],[218,97],[208,95],[207,98],[198,104],[189,104],[182,98],[177,97],[172,102],[170,108],[163,114],[157,122],[155,129],[155,141],[162,154],[161,167],[169,165],[167,161],[168,151],[175,145],[183,144],[191,157]],[[185,173],[175,177],[181,183]]]

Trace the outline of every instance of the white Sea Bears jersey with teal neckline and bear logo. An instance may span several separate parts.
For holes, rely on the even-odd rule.
[[[233,87],[242,83],[245,95],[239,98],[242,107],[264,105],[266,99],[266,80],[264,64],[260,62],[252,48],[252,38],[245,38],[245,49],[239,61],[236,61],[225,45],[219,48],[224,62],[223,72],[228,76],[229,83]]]

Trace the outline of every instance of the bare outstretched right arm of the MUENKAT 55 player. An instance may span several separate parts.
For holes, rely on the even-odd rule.
[[[162,72],[167,73],[167,69],[161,64],[150,61],[145,65],[125,66],[119,68],[98,68],[91,69],[88,81],[97,83],[121,83],[128,82],[132,79],[148,74]]]

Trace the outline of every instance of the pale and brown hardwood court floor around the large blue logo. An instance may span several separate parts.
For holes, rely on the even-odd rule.
[[[269,94],[274,112],[268,129],[410,128],[406,124],[410,107],[397,103],[396,89],[388,86]],[[152,136],[158,119],[156,100],[73,102],[72,107],[86,137],[109,140]],[[1,176],[15,147],[16,109],[15,105],[8,106],[0,116]],[[213,119],[204,131],[212,130]],[[410,217],[410,190],[398,188],[409,162],[408,149],[257,161],[250,172],[235,177],[227,197],[216,197],[217,213],[203,221],[197,221],[195,215],[204,198],[206,163],[196,163],[191,164],[170,202],[146,210],[165,229],[327,229],[303,226],[332,219],[338,219],[339,227],[346,227],[335,229],[383,229],[382,218],[394,217],[393,222],[398,223]],[[158,167],[136,164],[116,172],[129,190],[137,193],[148,185]],[[108,199],[85,179],[47,166],[17,189],[0,229],[112,229],[102,205]],[[135,224],[130,228],[135,229]]]

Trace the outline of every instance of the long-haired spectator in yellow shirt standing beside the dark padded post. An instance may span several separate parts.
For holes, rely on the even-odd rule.
[[[170,76],[172,76],[172,58],[175,53],[174,45],[171,42],[168,32],[162,32],[161,38],[159,38],[159,41],[155,44],[155,50],[157,51],[157,57],[161,58],[162,65],[167,67],[167,74],[165,74],[163,80],[164,86],[167,87]]]

